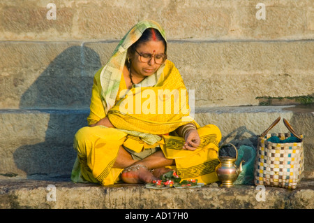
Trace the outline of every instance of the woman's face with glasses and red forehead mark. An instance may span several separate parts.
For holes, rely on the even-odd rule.
[[[151,55],[162,55],[165,53],[165,45],[163,41],[147,41],[137,45],[133,55],[130,55],[131,59],[131,73],[137,75],[138,78],[145,78],[155,73],[161,64],[156,64],[155,58],[151,57],[149,62],[142,62],[139,54],[150,53]]]

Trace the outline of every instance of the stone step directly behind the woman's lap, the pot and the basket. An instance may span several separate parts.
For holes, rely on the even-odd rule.
[[[0,110],[0,173],[22,178],[70,175],[76,154],[75,132],[87,125],[89,110]],[[191,113],[193,115],[193,113]],[[304,134],[305,176],[314,178],[314,119],[311,106],[197,108],[195,120],[216,124],[222,141],[256,148],[257,136],[277,117]],[[288,132],[283,122],[269,131]]]

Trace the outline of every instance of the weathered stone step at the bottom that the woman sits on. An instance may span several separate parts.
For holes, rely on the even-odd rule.
[[[302,180],[297,189],[259,189],[253,185],[221,188],[213,183],[200,188],[155,190],[147,189],[144,185],[117,184],[102,187],[91,183],[75,184],[64,179],[0,180],[0,208],[119,209],[119,215],[115,216],[118,222],[124,221],[126,214],[130,214],[128,209],[142,214],[158,209],[154,211],[160,215],[167,210],[188,213],[188,219],[191,220],[200,217],[200,214],[204,215],[204,210],[194,216],[190,209],[311,210],[314,208],[314,182]],[[140,212],[133,209],[140,209]],[[156,214],[151,213],[152,217],[149,218],[155,219]]]

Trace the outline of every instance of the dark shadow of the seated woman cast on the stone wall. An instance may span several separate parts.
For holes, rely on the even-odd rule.
[[[27,173],[28,178],[70,177],[76,157],[73,137],[87,125],[94,73],[100,67],[99,55],[94,50],[81,46],[67,48],[22,95],[20,108],[50,115],[45,141],[23,145],[13,155],[17,168]]]

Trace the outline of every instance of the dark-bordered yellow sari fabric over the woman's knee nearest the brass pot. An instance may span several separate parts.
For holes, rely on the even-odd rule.
[[[175,159],[177,174],[183,180],[197,179],[209,184],[218,181],[215,168],[218,166],[218,143],[221,133],[214,124],[197,129],[200,145],[195,151],[182,150],[184,138],[164,136],[165,143],[160,145],[165,157]]]

